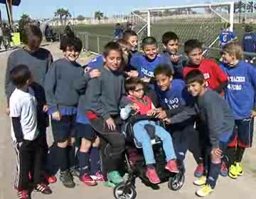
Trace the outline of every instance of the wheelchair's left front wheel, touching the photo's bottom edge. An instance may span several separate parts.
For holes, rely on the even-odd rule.
[[[119,183],[114,187],[114,198],[116,199],[134,199],[137,193],[133,185]]]

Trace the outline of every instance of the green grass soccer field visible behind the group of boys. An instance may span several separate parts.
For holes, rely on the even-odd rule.
[[[178,34],[180,42],[184,43],[186,40],[191,38],[197,38],[203,43],[203,45],[209,46],[212,41],[217,38],[220,33],[220,28],[223,26],[223,23],[189,23],[183,21],[182,23],[169,23],[170,21],[163,21],[158,23],[151,24],[151,36],[154,36],[159,43],[161,43],[161,36],[166,31],[174,31]],[[139,24],[138,26],[140,26]],[[254,31],[256,31],[256,24],[252,24]],[[100,41],[100,50],[103,49],[103,45],[111,40],[114,34],[114,24],[83,24],[78,26],[73,26],[75,33],[91,33],[92,35],[108,36],[107,38],[101,37]],[[62,32],[63,27],[55,28],[56,31]],[[235,34],[238,36],[238,39],[241,43],[242,37],[245,33],[244,28],[241,23],[234,24]],[[146,36],[146,30],[142,31],[139,38],[140,40]],[[90,50],[97,52],[97,37],[90,36],[89,39]],[[161,45],[160,45],[161,46]],[[213,47],[218,47],[218,42],[213,45]],[[219,53],[217,50],[210,50],[211,58],[218,58]]]

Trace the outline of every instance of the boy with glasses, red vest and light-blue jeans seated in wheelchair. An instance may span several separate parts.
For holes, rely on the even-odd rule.
[[[153,116],[156,114],[154,104],[151,99],[144,95],[144,82],[139,78],[131,78],[125,83],[125,90],[127,92],[127,105],[121,109],[121,118],[126,120],[129,116],[139,114],[144,116]],[[171,173],[179,173],[176,165],[176,154],[172,143],[171,135],[163,127],[156,124],[156,122],[149,120],[149,118],[140,119],[133,125],[134,137],[140,144],[142,144],[142,151],[146,161],[146,177],[151,183],[160,183],[154,164],[154,151],[151,146],[151,136],[153,132],[163,142],[163,149],[166,155],[166,170]]]

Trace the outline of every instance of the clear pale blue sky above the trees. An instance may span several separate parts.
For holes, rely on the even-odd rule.
[[[50,18],[58,8],[69,9],[70,14],[92,16],[94,11],[102,11],[107,16],[129,13],[134,9],[146,9],[154,6],[178,6],[206,2],[207,0],[21,0],[20,6],[14,6],[14,19],[23,13],[31,18]],[[0,4],[3,18],[6,18],[4,4]]]

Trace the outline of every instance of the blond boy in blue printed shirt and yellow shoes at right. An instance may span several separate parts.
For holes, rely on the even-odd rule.
[[[242,156],[245,148],[252,146],[253,121],[255,112],[256,68],[242,61],[240,45],[230,43],[223,48],[223,61],[220,67],[228,75],[225,100],[233,109],[235,129],[228,145],[230,178],[242,176]]]

